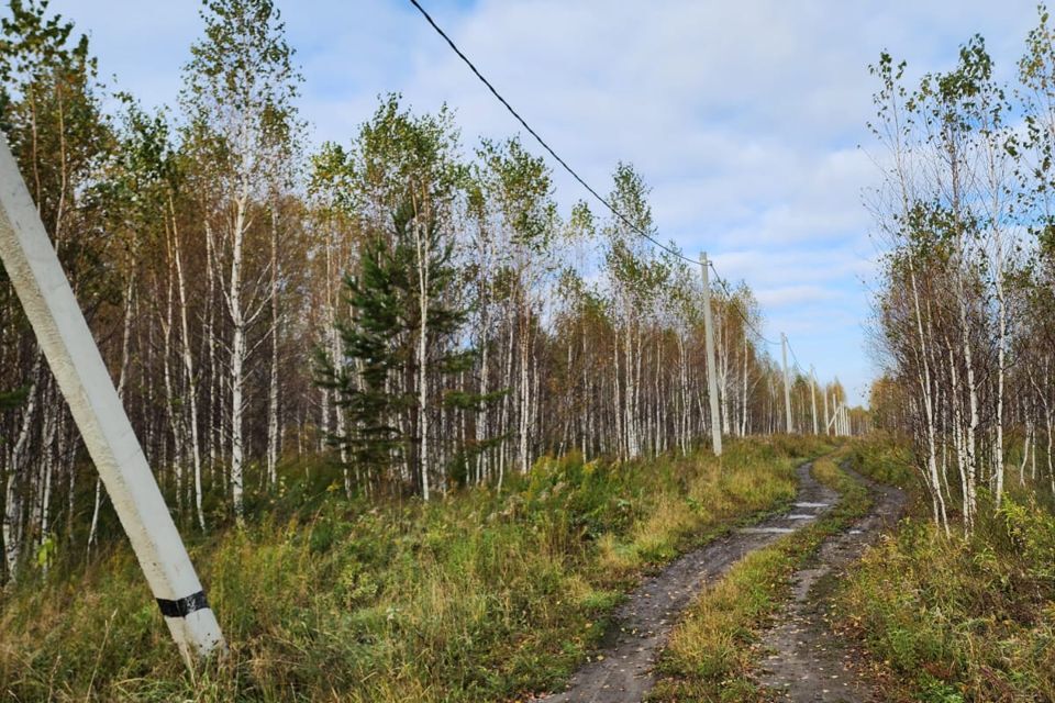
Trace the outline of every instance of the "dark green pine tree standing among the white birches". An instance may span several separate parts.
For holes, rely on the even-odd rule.
[[[471,409],[486,399],[448,388],[473,360],[471,350],[453,344],[468,315],[468,310],[451,302],[458,278],[453,243],[436,221],[419,221],[410,198],[391,213],[391,222],[390,241],[377,235],[367,242],[359,274],[345,280],[352,319],[337,323],[341,358],[318,354],[320,383],[335,390],[336,404],[346,413],[348,429],[335,433],[332,443],[347,449],[357,477],[381,477],[386,468],[404,464],[418,469],[411,477],[422,477],[418,488],[424,494],[429,477],[420,469],[427,457],[420,419],[441,404]],[[424,228],[423,235],[415,227]],[[421,236],[424,245],[418,241]],[[418,275],[422,268],[429,270],[424,290]],[[422,327],[426,349],[422,376],[448,391],[433,393],[425,406],[410,390],[422,371],[417,352]]]

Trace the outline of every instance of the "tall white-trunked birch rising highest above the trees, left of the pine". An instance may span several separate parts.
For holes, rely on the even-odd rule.
[[[230,477],[234,513],[241,520],[246,376],[255,346],[251,334],[274,291],[267,280],[277,275],[270,260],[253,256],[257,249],[269,252],[277,233],[267,230],[270,223],[263,227],[269,237],[254,225],[266,216],[268,196],[280,179],[282,160],[289,158],[300,77],[270,0],[210,0],[202,19],[206,37],[191,47],[180,102],[188,120],[186,138],[199,145],[198,158],[211,165],[207,178],[212,192],[202,227],[211,241],[210,265],[222,281],[231,328]],[[258,246],[263,243],[268,244]]]

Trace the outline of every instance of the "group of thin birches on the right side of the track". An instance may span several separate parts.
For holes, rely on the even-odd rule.
[[[871,406],[912,436],[946,531],[969,532],[1009,486],[1055,495],[1053,40],[1042,7],[1012,86],[981,37],[918,82],[886,54],[873,68],[887,255]]]

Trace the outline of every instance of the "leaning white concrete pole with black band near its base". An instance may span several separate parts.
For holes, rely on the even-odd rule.
[[[7,140],[0,138],[0,261],[185,661],[223,635],[121,405]]]

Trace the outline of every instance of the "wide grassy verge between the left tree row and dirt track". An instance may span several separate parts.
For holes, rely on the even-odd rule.
[[[786,505],[802,439],[612,465],[542,460],[502,493],[346,502],[287,487],[191,545],[231,644],[192,682],[131,551],[0,601],[0,691],[20,701],[487,701],[559,685],[640,574]],[[320,471],[314,471],[318,476]],[[316,490],[318,489],[318,490]]]

